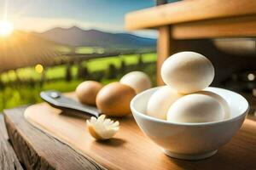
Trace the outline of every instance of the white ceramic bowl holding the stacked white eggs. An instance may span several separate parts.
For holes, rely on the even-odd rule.
[[[138,126],[167,156],[198,160],[214,155],[240,129],[249,105],[240,94],[222,88],[206,88],[229,104],[230,118],[221,122],[173,123],[146,115],[148,99],[158,88],[150,88],[131,100]]]

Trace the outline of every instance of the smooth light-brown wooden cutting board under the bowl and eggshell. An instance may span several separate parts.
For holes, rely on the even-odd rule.
[[[256,122],[250,120],[244,122],[239,133],[215,156],[201,161],[182,161],[163,154],[143,135],[132,116],[118,119],[120,130],[113,139],[96,141],[88,133],[84,118],[63,114],[46,103],[28,107],[25,114],[26,120],[35,127],[108,169],[256,168]]]

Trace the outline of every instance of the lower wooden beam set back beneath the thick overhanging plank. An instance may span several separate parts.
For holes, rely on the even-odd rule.
[[[256,37],[256,15],[177,24],[172,26],[172,36],[175,39]]]

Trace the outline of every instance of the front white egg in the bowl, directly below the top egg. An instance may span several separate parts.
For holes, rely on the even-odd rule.
[[[169,122],[218,122],[224,120],[224,108],[206,94],[188,94],[174,102],[167,113]]]

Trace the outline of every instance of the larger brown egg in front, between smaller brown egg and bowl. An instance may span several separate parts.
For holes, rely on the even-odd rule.
[[[131,113],[130,102],[135,95],[133,88],[112,82],[97,94],[96,105],[107,116],[126,116]]]

